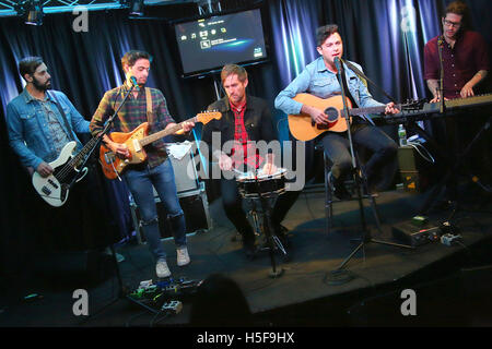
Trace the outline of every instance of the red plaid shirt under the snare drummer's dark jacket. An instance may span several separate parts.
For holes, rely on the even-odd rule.
[[[232,158],[234,167],[238,168],[245,164],[251,168],[257,169],[262,163],[262,158],[256,154],[256,148],[249,142],[249,136],[244,127],[244,111],[246,110],[246,100],[239,106],[234,106],[231,101],[231,110],[234,113],[234,148],[232,149]],[[248,154],[249,153],[249,154]],[[250,156],[248,156],[250,155]]]

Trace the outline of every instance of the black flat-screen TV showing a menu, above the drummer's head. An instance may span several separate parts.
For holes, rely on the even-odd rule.
[[[175,33],[185,77],[268,58],[259,9],[181,22]]]

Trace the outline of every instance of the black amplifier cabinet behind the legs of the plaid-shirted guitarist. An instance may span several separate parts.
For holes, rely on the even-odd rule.
[[[186,233],[195,234],[197,232],[206,232],[212,228],[212,220],[209,213],[209,203],[203,182],[200,188],[195,191],[178,192],[179,205],[185,214]],[[159,228],[162,239],[173,239],[171,224],[166,217],[166,212],[161,203],[160,197],[155,196],[155,205],[157,207]],[[145,242],[145,236],[140,227],[140,213],[138,205],[130,201],[131,216],[133,227],[137,232],[139,243]]]

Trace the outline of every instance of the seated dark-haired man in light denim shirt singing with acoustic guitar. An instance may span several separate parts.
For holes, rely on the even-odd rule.
[[[337,59],[343,56],[343,41],[336,24],[325,25],[316,31],[316,49],[321,55],[307,64],[276,98],[276,108],[288,115],[306,113],[313,121],[323,127],[327,125],[328,117],[324,110],[293,100],[300,93],[309,93],[316,97],[328,98],[341,94],[340,82],[337,79]],[[359,70],[361,67],[353,63]],[[361,108],[384,106],[373,99],[364,82],[344,63],[341,75],[347,80],[345,95],[351,99],[352,106]],[[386,105],[386,113],[397,113],[394,103]],[[342,120],[344,121],[344,120]],[[340,122],[340,121],[339,121]],[[364,166],[370,191],[386,189],[394,179],[396,166],[394,159],[398,146],[383,131],[374,125],[367,117],[353,117],[350,129],[354,145],[372,151],[372,156]],[[351,195],[344,188],[343,181],[351,173],[352,158],[347,132],[325,132],[315,140],[321,142],[324,151],[333,164],[329,173],[330,184],[335,195],[339,198],[349,198]],[[387,166],[385,166],[387,165]],[[382,171],[377,171],[377,170]]]

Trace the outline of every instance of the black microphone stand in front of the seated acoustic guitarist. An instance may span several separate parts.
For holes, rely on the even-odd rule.
[[[342,76],[342,73],[344,74],[344,72],[342,72],[341,59],[336,57],[335,64],[337,67],[337,76],[340,82],[341,96],[342,96],[342,100],[343,100],[342,116],[347,122],[347,134],[348,134],[349,145],[350,145],[350,154],[352,157],[352,170],[353,170],[352,176],[354,178],[355,188],[358,191],[359,212],[361,215],[361,222],[362,222],[362,238],[360,239],[361,243],[355,248],[355,250],[352,251],[352,253],[350,253],[350,255],[336,269],[330,272],[331,277],[332,277],[331,281],[333,284],[338,285],[338,284],[348,282],[353,279],[353,275],[344,274],[342,269],[345,266],[345,264],[349,263],[349,261],[355,255],[355,253],[358,253],[359,250],[363,249],[366,243],[374,242],[374,243],[394,245],[394,246],[398,246],[398,248],[407,248],[407,249],[412,249],[412,248],[409,245],[398,244],[398,243],[394,243],[394,242],[375,240],[371,237],[371,232],[367,229],[365,215],[364,215],[364,205],[362,202],[362,190],[361,190],[362,184],[367,189],[367,179],[365,178],[365,173],[362,171],[362,169],[359,168],[359,164],[355,158],[355,152],[354,152],[354,146],[353,146],[353,141],[352,141],[352,132],[350,129],[351,124],[350,124],[349,107],[347,105],[347,95],[345,95],[345,88],[344,88],[343,76]],[[374,197],[371,196],[371,200],[372,200],[371,206],[373,209],[373,214],[376,218],[376,225],[378,226],[378,230],[382,231],[380,227],[379,227],[379,220],[378,220],[377,214],[375,212]]]

